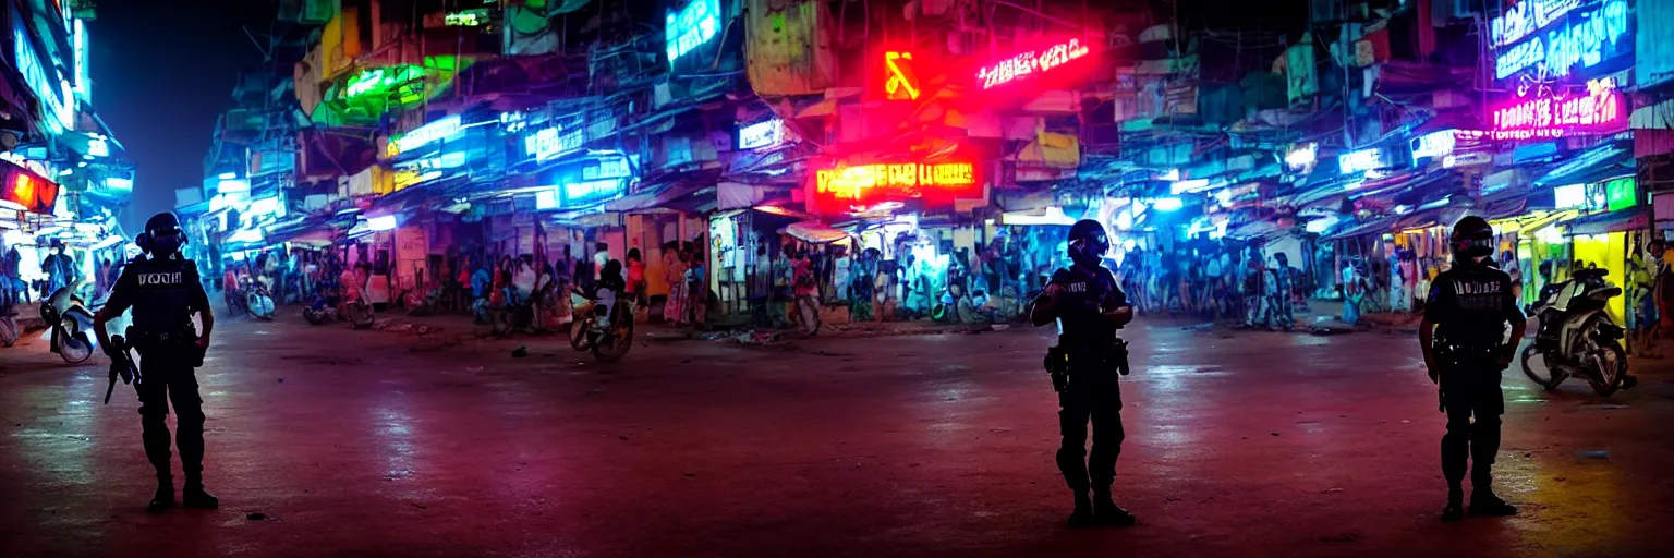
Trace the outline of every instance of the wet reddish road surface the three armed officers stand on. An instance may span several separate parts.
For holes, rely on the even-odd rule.
[[[1510,519],[1441,524],[1411,337],[1128,332],[1117,499],[1070,531],[1048,328],[772,347],[223,323],[199,382],[219,511],[146,514],[104,357],[0,349],[5,556],[1661,555],[1674,374],[1612,399],[1508,370]],[[531,357],[512,359],[521,344]],[[1605,451],[1607,457],[1585,457]],[[1589,454],[1595,456],[1595,454]],[[177,468],[177,466],[176,466]],[[179,473],[176,473],[179,478]],[[261,513],[264,519],[249,519]]]

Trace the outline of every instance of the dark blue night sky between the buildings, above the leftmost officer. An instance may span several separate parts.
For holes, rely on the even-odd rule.
[[[264,0],[99,2],[92,40],[94,109],[134,159],[129,233],[174,206],[174,189],[203,184],[216,116],[238,72],[261,62],[243,25],[268,28]]]

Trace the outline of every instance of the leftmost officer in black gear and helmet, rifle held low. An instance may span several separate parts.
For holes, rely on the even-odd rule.
[[[159,213],[146,221],[146,231],[134,240],[147,258],[122,270],[104,310],[94,317],[99,345],[110,355],[112,369],[132,365],[127,349],[139,350],[144,374],[134,382],[139,390],[139,416],[144,427],[146,457],[157,469],[157,494],[147,509],[174,506],[174,476],[169,473],[169,400],[176,412],[176,447],[186,486],[181,499],[187,508],[218,508],[219,501],[204,491],[204,412],[198,395],[194,367],[203,365],[209,349],[214,315],[209,295],[198,280],[198,265],[181,256],[186,231],[172,213]],[[105,332],[109,320],[134,308],[127,338]],[[191,315],[199,313],[203,333],[194,332]]]

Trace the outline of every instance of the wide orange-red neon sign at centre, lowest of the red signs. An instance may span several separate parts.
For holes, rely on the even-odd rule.
[[[859,211],[884,201],[922,201],[949,206],[983,198],[979,166],[949,163],[879,163],[835,166],[814,173],[810,209]]]

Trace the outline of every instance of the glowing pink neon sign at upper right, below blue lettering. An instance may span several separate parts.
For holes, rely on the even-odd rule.
[[[1615,90],[1615,80],[1600,79],[1587,82],[1585,94],[1543,94],[1498,104],[1490,111],[1490,132],[1495,139],[1609,134],[1627,127],[1627,97]]]

